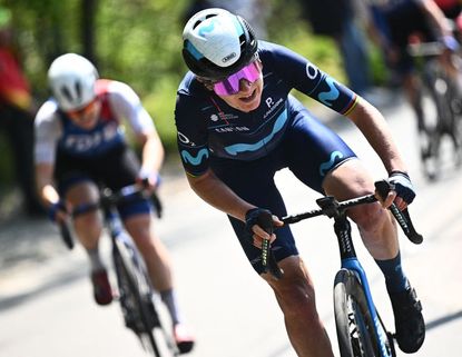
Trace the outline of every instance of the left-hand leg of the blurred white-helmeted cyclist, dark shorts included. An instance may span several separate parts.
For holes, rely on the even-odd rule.
[[[70,158],[58,151],[55,177],[61,197],[71,207],[98,202],[99,190],[91,179],[89,168],[87,160]],[[73,228],[90,260],[95,299],[99,305],[107,305],[112,300],[112,292],[98,249],[102,231],[100,212],[91,210],[75,217]]]

